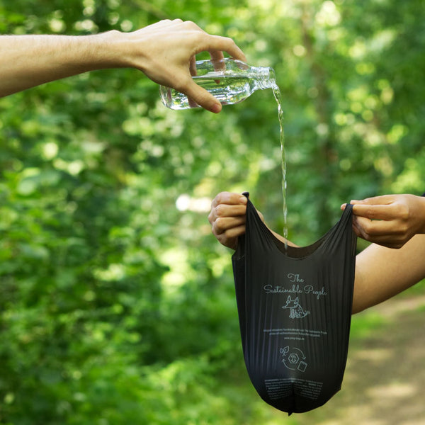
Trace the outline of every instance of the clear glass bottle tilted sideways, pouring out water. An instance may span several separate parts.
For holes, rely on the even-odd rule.
[[[276,77],[273,68],[251,67],[248,64],[226,57],[222,60],[196,62],[196,84],[208,90],[222,105],[244,101],[256,90],[273,89]],[[185,94],[166,86],[159,87],[162,103],[171,109],[198,108]]]

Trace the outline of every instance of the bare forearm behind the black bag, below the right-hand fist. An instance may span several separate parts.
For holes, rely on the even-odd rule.
[[[353,313],[401,293],[425,278],[425,235],[400,249],[371,244],[356,258]]]

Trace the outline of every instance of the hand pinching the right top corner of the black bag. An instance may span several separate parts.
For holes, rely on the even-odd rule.
[[[414,234],[425,233],[424,197],[385,195],[351,200],[351,204],[354,232],[369,242],[401,248]]]

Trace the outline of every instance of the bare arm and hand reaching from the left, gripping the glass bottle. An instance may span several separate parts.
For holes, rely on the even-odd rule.
[[[132,33],[1,35],[0,97],[95,69],[133,67],[209,111],[220,112],[220,102],[191,78],[195,56],[203,51],[213,59],[227,52],[246,60],[232,39],[210,35],[180,19],[160,21]]]

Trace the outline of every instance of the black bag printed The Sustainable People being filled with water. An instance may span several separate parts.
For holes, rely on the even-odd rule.
[[[246,194],[247,196],[247,194]],[[261,398],[288,414],[341,389],[353,301],[352,206],[310,246],[285,246],[248,200],[232,256],[246,369]]]

